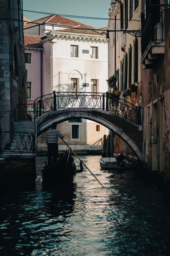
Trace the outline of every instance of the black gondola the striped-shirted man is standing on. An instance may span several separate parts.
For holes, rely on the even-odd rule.
[[[42,180],[45,185],[59,186],[72,184],[75,177],[76,168],[72,166],[71,148],[56,163],[50,166],[45,165],[44,169],[42,169]]]

